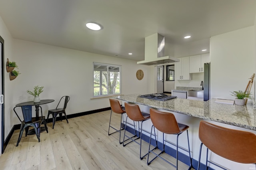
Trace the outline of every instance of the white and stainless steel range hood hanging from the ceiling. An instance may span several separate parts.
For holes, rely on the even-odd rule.
[[[145,38],[145,60],[137,64],[157,65],[179,61],[175,57],[164,56],[164,36],[156,33]]]

